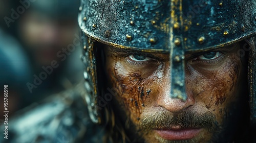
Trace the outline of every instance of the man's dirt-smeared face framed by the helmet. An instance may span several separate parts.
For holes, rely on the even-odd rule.
[[[146,142],[216,141],[230,127],[236,128],[245,76],[239,48],[233,44],[186,53],[183,102],[170,98],[169,54],[107,47],[106,72],[118,92],[115,106],[121,106]]]

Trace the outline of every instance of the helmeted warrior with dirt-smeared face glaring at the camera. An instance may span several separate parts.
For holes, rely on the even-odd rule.
[[[86,90],[79,94],[101,125],[88,123],[79,98],[66,92],[72,98],[53,99],[59,106],[48,106],[53,115],[44,114],[41,128],[70,142],[255,141],[256,2],[81,5]],[[22,129],[24,122],[15,123]]]

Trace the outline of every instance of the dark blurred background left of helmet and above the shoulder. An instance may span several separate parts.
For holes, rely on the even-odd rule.
[[[8,85],[9,115],[83,79],[79,3],[0,0],[0,91]]]

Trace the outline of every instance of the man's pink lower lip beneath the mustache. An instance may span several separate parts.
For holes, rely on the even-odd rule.
[[[201,129],[199,128],[182,128],[182,129],[162,129],[156,132],[164,139],[167,140],[186,140],[195,137]]]

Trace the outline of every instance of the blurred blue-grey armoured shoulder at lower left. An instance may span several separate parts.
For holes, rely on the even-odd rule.
[[[8,139],[0,142],[103,142],[105,132],[90,122],[82,94],[87,92],[78,84],[20,110],[9,120]]]

